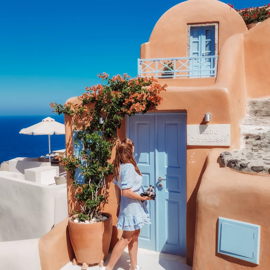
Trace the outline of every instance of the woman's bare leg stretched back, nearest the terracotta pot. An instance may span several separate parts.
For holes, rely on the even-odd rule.
[[[130,243],[134,232],[136,231],[123,231],[121,239],[117,242],[117,244],[113,248],[110,261],[106,266],[106,270],[113,270],[114,265],[121,257],[125,247]]]

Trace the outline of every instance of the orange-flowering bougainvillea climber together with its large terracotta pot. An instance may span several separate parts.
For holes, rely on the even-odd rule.
[[[112,236],[112,215],[103,212],[107,201],[106,177],[113,173],[113,165],[108,162],[111,149],[117,141],[117,128],[124,116],[146,113],[149,106],[161,103],[161,86],[153,77],[113,76],[100,73],[97,75],[106,85],[86,87],[86,92],[78,97],[81,104],[51,103],[53,112],[64,113],[71,117],[76,136],[75,145],[82,143],[83,150],[64,158],[59,157],[63,167],[72,179],[73,194],[79,205],[79,212],[69,218],[69,235],[75,252],[74,263],[83,264],[87,269],[90,264],[103,263],[109,251]],[[94,103],[95,109],[89,104]],[[80,127],[78,126],[80,123]],[[84,184],[76,181],[84,177]]]

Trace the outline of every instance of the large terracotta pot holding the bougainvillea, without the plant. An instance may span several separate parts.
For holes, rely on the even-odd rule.
[[[112,215],[102,222],[83,224],[69,218],[68,228],[76,260],[83,264],[98,264],[108,256],[112,238]]]

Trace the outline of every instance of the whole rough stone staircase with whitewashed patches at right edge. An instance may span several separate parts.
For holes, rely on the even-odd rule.
[[[248,100],[241,122],[240,150],[220,154],[220,162],[247,173],[270,174],[270,99]]]

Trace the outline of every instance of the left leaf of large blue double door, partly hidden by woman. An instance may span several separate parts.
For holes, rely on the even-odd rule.
[[[137,114],[128,117],[129,139],[134,143],[134,157],[138,168],[143,176],[143,187],[155,186],[155,160],[154,160],[154,136],[155,116],[150,114]],[[155,250],[155,201],[149,203],[149,214],[151,225],[144,225],[141,228],[139,247]]]

